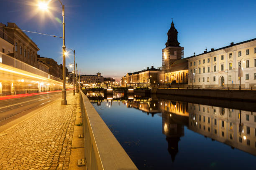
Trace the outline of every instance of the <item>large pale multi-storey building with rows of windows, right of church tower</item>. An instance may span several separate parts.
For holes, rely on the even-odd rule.
[[[256,88],[256,38],[189,57],[189,87]]]

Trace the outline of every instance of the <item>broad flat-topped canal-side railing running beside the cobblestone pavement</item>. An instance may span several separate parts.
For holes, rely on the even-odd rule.
[[[82,90],[80,102],[87,170],[138,170]]]

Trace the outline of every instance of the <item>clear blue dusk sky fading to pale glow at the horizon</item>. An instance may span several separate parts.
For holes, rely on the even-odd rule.
[[[184,57],[211,48],[256,38],[256,2],[241,0],[61,0],[66,9],[66,47],[76,50],[82,74],[101,72],[120,77],[127,72],[161,66],[170,25],[178,30]],[[48,13],[37,10],[37,0],[0,0],[0,22],[22,30],[62,36],[61,5]],[[50,14],[49,14],[50,13]],[[58,19],[59,18],[59,19]],[[38,45],[38,54],[62,62],[62,40],[26,34]],[[67,66],[73,62],[70,51]],[[72,70],[69,68],[69,70]]]

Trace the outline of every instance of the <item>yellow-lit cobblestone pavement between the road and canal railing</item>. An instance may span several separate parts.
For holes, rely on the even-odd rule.
[[[0,170],[67,170],[78,95],[60,100],[0,136]]]

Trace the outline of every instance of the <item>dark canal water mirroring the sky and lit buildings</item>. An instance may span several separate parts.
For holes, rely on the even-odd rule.
[[[207,99],[170,96],[125,100],[120,93],[105,99],[104,94],[87,96],[140,170],[256,170],[256,112],[248,110],[253,104],[211,106],[205,105]]]

